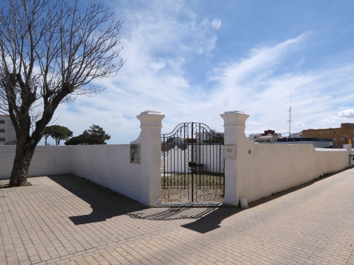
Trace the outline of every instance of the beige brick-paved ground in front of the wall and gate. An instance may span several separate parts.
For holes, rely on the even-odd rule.
[[[31,177],[0,189],[0,264],[354,265],[353,176],[247,210],[148,208],[75,175]]]

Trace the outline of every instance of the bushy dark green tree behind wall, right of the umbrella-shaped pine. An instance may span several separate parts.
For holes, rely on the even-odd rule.
[[[85,130],[79,136],[72,137],[65,141],[65,145],[94,145],[107,144],[105,141],[110,139],[110,135],[103,131],[102,127],[93,124],[89,130]]]

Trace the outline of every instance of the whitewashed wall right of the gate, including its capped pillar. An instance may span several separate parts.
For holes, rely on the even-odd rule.
[[[337,172],[352,165],[352,149],[320,149],[313,145],[255,144],[245,135],[249,115],[221,114],[225,145],[236,147],[236,158],[225,159],[224,203],[251,202]]]

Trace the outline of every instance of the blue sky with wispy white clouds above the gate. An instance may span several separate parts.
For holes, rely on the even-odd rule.
[[[166,115],[162,133],[220,114],[250,115],[246,135],[354,122],[354,1],[105,1],[121,29],[124,66],[107,89],[58,107],[74,135],[96,124],[108,144],[135,140],[136,116]],[[219,23],[213,23],[213,21]],[[216,29],[215,25],[219,27]]]

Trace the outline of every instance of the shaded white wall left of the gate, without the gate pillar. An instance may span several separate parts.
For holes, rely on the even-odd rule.
[[[0,179],[9,179],[15,145],[0,146]],[[130,145],[39,145],[28,176],[74,173],[99,185],[141,199],[141,164],[130,163]]]

